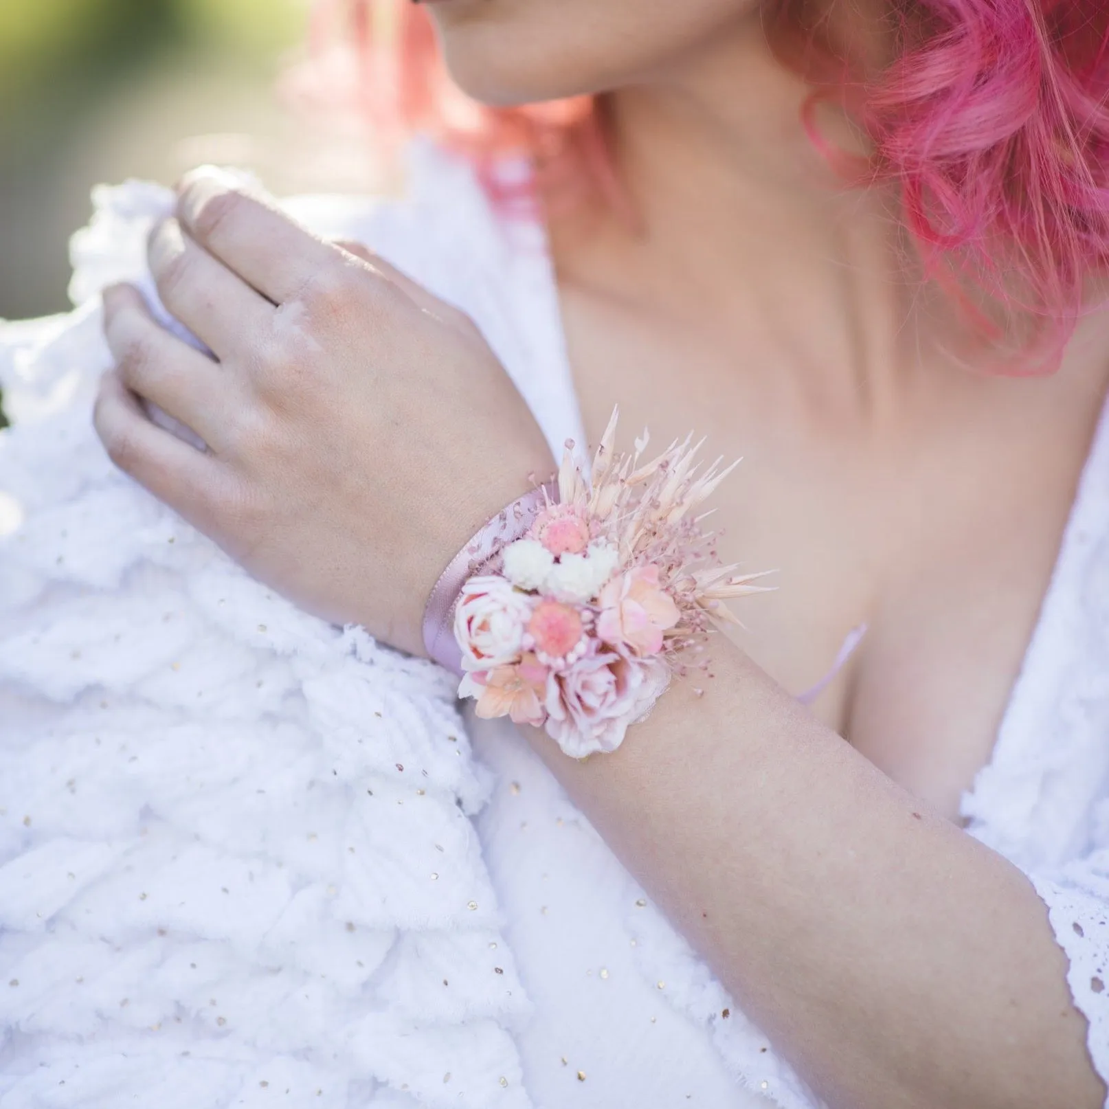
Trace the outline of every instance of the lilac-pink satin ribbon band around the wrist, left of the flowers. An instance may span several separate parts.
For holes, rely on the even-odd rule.
[[[462,674],[462,652],[455,641],[455,604],[469,578],[495,568],[500,552],[523,537],[536,517],[558,500],[558,482],[548,481],[530,489],[502,508],[450,560],[435,583],[424,609],[424,648],[441,667]]]

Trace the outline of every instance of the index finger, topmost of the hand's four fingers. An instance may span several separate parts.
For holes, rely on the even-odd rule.
[[[213,166],[182,179],[177,216],[197,243],[274,304],[295,301],[342,254]]]

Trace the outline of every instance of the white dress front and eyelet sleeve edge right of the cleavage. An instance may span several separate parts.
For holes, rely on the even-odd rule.
[[[1109,1089],[1109,405],[993,757],[962,811],[1042,898]]]

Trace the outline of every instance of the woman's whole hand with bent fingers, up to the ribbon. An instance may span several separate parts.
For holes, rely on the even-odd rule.
[[[423,653],[438,574],[553,468],[477,328],[212,170],[185,179],[150,265],[212,355],[162,328],[133,287],[105,292],[116,366],[94,419],[112,459],[296,603]]]

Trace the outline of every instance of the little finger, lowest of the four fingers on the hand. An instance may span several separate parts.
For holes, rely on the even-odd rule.
[[[115,465],[186,520],[200,522],[225,488],[220,464],[156,427],[119,374],[100,380],[93,425]]]

